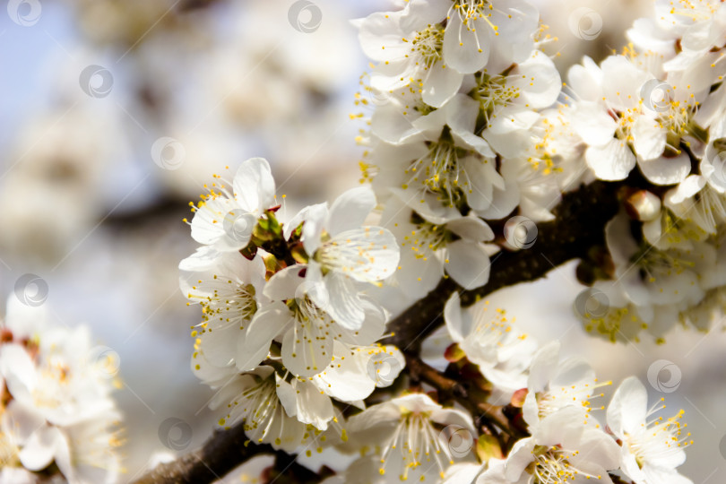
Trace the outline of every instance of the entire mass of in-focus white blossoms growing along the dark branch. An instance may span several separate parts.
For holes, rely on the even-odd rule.
[[[526,0],[410,0],[356,21],[376,61],[357,95],[371,110],[353,115],[367,121],[362,186],[279,220],[270,167],[252,159],[192,204],[203,246],[180,264],[181,287],[203,307],[192,367],[218,390],[220,426],[242,422],[251,441],[288,452],[359,452],[330,484],[691,482],[677,471],[682,411],[653,418],[664,406],[648,407],[631,377],[601,422],[592,401],[611,383],[502,310],[462,307],[456,292],[445,304],[437,375],[466,380],[473,407],[451,385],[426,393],[442,388],[425,377],[391,386],[405,359],[377,341],[442,278],[485,285],[490,256],[531,245],[521,220],[553,220],[561,195],[595,178],[626,189],[606,229],[601,273],[613,277],[576,303],[588,329],[660,336],[722,306],[726,7],[697,10],[636,22],[634,45],[600,66],[586,58],[566,92]],[[367,406],[376,387],[390,388]],[[506,407],[505,424],[489,406]]]

